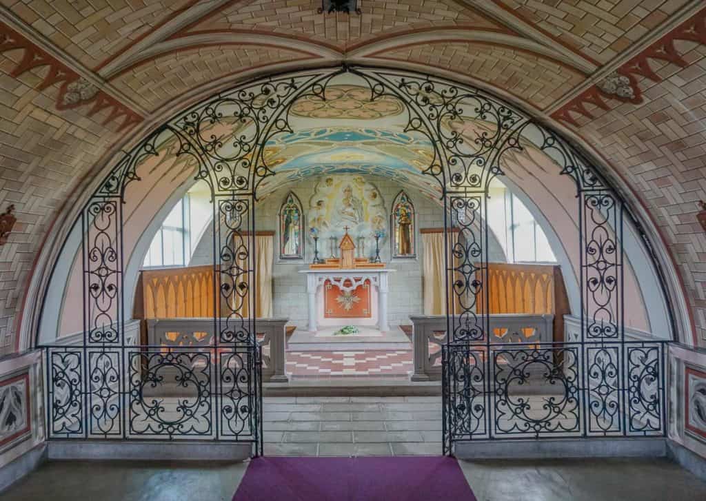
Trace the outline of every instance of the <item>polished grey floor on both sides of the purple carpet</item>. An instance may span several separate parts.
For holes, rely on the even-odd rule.
[[[666,459],[460,461],[460,465],[479,501],[706,499],[706,483]],[[0,494],[0,499],[227,501],[246,468],[247,463],[53,462]]]

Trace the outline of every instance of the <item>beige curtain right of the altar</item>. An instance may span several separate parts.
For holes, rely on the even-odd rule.
[[[443,233],[421,234],[421,245],[424,315],[444,315],[446,296],[444,294]]]

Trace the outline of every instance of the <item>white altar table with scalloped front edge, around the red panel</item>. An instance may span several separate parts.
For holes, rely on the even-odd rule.
[[[381,331],[390,330],[388,324],[388,275],[395,270],[388,268],[354,269],[354,270],[301,270],[299,273],[306,274],[306,295],[309,298],[309,331],[318,330],[316,310],[316,294],[323,284],[330,280],[341,291],[351,292],[358,286],[369,280],[371,286],[375,287],[378,296],[378,329]],[[349,281],[349,285],[345,282]]]

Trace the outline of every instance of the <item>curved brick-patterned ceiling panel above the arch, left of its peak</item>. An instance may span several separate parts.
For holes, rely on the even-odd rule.
[[[112,83],[146,109],[154,110],[169,99],[223,76],[309,57],[295,50],[273,47],[203,47],[145,61],[116,76]]]

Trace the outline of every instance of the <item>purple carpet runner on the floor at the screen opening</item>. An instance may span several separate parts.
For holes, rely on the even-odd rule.
[[[233,501],[476,501],[450,457],[258,457]]]

